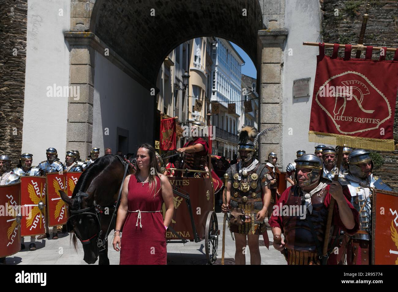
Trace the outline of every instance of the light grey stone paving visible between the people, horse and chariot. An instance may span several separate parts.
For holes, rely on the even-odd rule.
[[[217,213],[219,222],[220,236],[218,246],[217,262],[220,263],[222,251],[222,213]],[[228,229],[228,228],[227,228]],[[112,233],[113,234],[113,233]],[[271,231],[268,231],[270,240]],[[232,241],[230,232],[225,236],[225,259],[226,263],[233,264],[235,256],[235,242]],[[261,236],[260,236],[261,239]],[[262,241],[262,240],[261,240]],[[29,251],[30,237],[25,237],[26,248],[11,257],[7,257],[8,265],[88,265],[83,261],[83,248],[79,242],[79,250],[76,253],[70,244],[68,234],[59,233],[57,240],[36,240],[37,250]],[[111,247],[112,235],[108,237],[109,251],[108,257],[111,265],[119,264],[119,252]],[[169,265],[192,265],[206,264],[204,240],[202,242],[187,242],[186,244],[170,243],[167,245],[167,259]],[[260,246],[261,265],[286,265],[286,261],[279,251],[273,248],[272,242],[269,250],[265,246]],[[246,264],[250,264],[250,250],[247,248]],[[98,265],[98,261],[96,262]]]

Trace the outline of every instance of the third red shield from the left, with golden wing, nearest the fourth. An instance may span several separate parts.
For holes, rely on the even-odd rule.
[[[66,191],[66,172],[46,174],[47,220],[49,227],[66,224],[67,205],[62,201],[59,191]]]

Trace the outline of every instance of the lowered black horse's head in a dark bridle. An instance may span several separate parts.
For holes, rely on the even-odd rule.
[[[59,191],[62,200],[69,206],[67,222],[68,232],[73,230],[72,242],[77,250],[77,238],[83,245],[84,261],[93,264],[98,259],[98,239],[101,234],[101,222],[96,212],[92,195],[82,191],[69,198],[66,193]]]

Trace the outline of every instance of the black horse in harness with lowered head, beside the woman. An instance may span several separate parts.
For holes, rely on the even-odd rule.
[[[98,264],[109,265],[108,243],[98,247],[98,240],[106,240],[109,226],[109,232],[115,229],[112,215],[127,165],[128,175],[133,173],[131,164],[125,164],[116,155],[99,157],[80,176],[72,198],[59,191],[62,200],[69,206],[68,228],[74,231],[73,246],[77,251],[78,238],[83,244],[86,263],[95,263],[100,255]]]

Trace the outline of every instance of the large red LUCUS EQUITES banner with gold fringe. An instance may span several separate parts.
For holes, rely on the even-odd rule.
[[[345,56],[339,58],[339,44],[334,44],[331,57],[319,44],[310,142],[394,150],[398,50],[392,61],[385,60],[386,48],[379,60],[372,60],[372,48],[367,46],[365,59],[357,59],[351,58],[351,45],[346,44]]]

